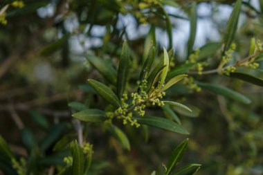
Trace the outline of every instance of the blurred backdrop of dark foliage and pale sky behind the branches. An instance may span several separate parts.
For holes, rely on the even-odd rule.
[[[49,144],[55,145],[62,136],[76,132],[71,117],[74,111],[68,103],[92,102],[87,100],[93,99],[87,78],[100,78],[84,53],[116,59],[123,40],[127,39],[135,59],[140,62],[151,26],[155,26],[158,53],[163,46],[169,47],[165,20],[154,9],[139,6],[149,2],[25,0],[22,8],[8,7],[7,24],[0,24],[0,133],[15,154],[28,157],[27,144],[33,139],[43,144],[46,137],[54,136]],[[169,2],[164,9],[172,24],[174,62],[180,64],[187,59],[189,12],[193,1]],[[235,1],[196,2],[194,49],[221,42]],[[251,37],[263,39],[260,2],[243,1],[234,41],[237,58],[248,54]],[[8,3],[12,1],[1,1],[0,9]],[[217,63],[215,57],[218,53],[209,57],[212,67]],[[263,69],[262,63],[260,68]],[[177,113],[190,131],[189,146],[181,165],[200,163],[199,174],[263,174],[262,87],[221,75],[203,75],[197,79],[235,89],[252,103],[241,104],[207,91],[172,89],[172,98],[195,109],[192,115]],[[145,142],[143,130],[127,128],[125,131],[131,151],[123,150],[100,127],[88,125],[87,140],[94,148],[91,174],[150,174],[165,163],[172,149],[186,138],[151,129]],[[52,149],[47,149],[46,157],[43,156],[39,164],[48,167],[51,152]],[[60,163],[61,160],[52,161]]]

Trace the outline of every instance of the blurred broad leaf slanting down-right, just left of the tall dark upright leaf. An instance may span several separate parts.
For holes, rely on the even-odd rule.
[[[116,84],[116,70],[109,65],[108,62],[105,62],[104,59],[100,59],[100,57],[90,54],[86,54],[85,57],[89,63],[95,67],[103,77],[105,77],[106,80],[108,80],[111,84]]]

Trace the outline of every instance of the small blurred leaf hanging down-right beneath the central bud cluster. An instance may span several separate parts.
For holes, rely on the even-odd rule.
[[[125,148],[127,150],[131,149],[131,147],[129,145],[129,140],[128,140],[126,134],[122,130],[120,130],[118,127],[116,127],[114,125],[110,125],[109,131],[114,136],[114,138],[116,138],[116,140],[118,140],[118,142],[120,142],[120,144],[123,145],[123,148]]]

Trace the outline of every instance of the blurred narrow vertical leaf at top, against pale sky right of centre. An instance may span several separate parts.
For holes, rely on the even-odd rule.
[[[197,33],[197,3],[192,3],[190,11],[190,35],[188,39],[188,56],[192,53],[194,46],[195,34]]]

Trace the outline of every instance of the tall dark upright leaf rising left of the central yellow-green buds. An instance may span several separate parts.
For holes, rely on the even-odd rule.
[[[127,41],[123,43],[123,50],[120,55],[120,64],[118,66],[117,74],[117,95],[118,98],[123,97],[123,92],[125,91],[125,86],[127,84],[128,75],[129,75],[129,65],[130,65],[130,56],[129,48]]]

